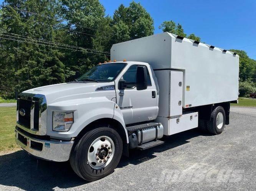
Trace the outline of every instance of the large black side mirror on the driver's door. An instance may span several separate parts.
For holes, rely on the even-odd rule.
[[[137,90],[147,89],[146,66],[137,66],[136,87],[137,87]]]

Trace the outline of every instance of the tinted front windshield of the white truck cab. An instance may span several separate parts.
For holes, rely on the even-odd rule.
[[[118,74],[122,71],[126,63],[107,63],[94,66],[87,71],[83,76],[76,79],[78,81],[106,81],[110,82],[116,79]]]

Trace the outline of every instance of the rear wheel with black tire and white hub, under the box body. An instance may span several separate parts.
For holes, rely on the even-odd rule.
[[[213,112],[211,112],[210,121],[207,121],[207,129],[212,134],[222,133],[226,122],[225,110],[223,107],[216,107]]]

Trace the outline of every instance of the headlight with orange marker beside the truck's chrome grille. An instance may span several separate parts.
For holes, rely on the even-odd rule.
[[[74,112],[53,112],[53,131],[67,132],[74,123]]]

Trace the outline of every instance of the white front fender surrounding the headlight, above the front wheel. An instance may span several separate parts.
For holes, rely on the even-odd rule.
[[[47,134],[59,138],[76,137],[89,123],[101,118],[113,118],[114,106],[115,102],[106,97],[91,97],[51,104],[47,108]],[[52,130],[53,111],[74,111],[74,123],[68,132]]]

